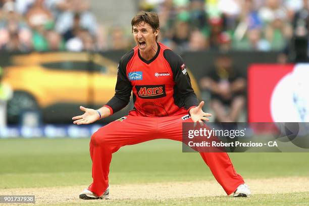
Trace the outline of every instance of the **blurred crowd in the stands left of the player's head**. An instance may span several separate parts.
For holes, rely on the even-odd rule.
[[[101,28],[84,0],[2,0],[0,47],[7,51],[98,50]]]

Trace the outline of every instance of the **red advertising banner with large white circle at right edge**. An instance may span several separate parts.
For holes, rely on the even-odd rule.
[[[252,65],[249,122],[309,122],[309,64]]]

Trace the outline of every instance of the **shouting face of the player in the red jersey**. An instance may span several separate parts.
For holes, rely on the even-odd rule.
[[[141,52],[147,52],[156,43],[159,30],[153,31],[149,24],[141,22],[139,25],[133,26],[132,32],[139,50]]]

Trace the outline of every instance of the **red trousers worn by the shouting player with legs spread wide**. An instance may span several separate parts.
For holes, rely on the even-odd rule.
[[[98,129],[91,136],[90,156],[92,160],[93,182],[89,190],[100,196],[109,185],[109,172],[112,154],[125,145],[138,144],[153,139],[182,141],[182,120],[187,111],[180,109],[169,117],[140,117],[135,111],[128,116]],[[214,177],[229,195],[243,184],[226,152],[200,152]]]

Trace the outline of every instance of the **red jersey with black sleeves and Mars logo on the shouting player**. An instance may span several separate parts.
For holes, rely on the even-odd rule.
[[[115,91],[106,105],[112,113],[128,104],[131,91],[139,116],[171,116],[198,104],[182,58],[162,43],[149,61],[140,56],[137,46],[122,57]]]

